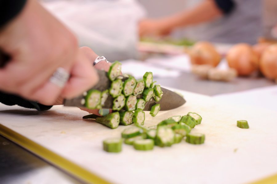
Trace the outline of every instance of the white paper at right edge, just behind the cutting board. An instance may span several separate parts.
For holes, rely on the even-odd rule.
[[[229,103],[251,105],[277,112],[277,85],[242,92],[218,94],[213,96],[213,98]]]

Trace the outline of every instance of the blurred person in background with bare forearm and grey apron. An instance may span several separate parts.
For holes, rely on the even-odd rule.
[[[261,0],[197,1],[195,6],[179,13],[140,21],[139,34],[165,36],[172,33],[172,36],[193,40],[254,44],[263,30],[262,2]],[[171,3],[174,6],[174,1]]]

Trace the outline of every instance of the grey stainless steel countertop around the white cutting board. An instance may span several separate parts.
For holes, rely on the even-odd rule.
[[[211,96],[275,85],[273,81],[257,77],[237,78],[233,82],[206,81],[185,72],[175,79],[154,80],[163,86]],[[55,173],[54,177],[49,176],[49,170]],[[46,182],[40,183],[57,183],[57,180],[59,183],[80,183],[69,174],[0,136],[0,183],[28,183],[28,177],[35,175],[47,177]]]

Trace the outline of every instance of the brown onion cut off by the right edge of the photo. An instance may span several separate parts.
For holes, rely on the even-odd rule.
[[[268,79],[277,79],[277,44],[268,46],[263,52],[260,70]]]

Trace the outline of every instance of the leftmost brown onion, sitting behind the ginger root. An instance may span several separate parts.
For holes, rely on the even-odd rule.
[[[198,42],[189,51],[191,64],[208,64],[216,67],[220,62],[220,55],[209,42]]]

